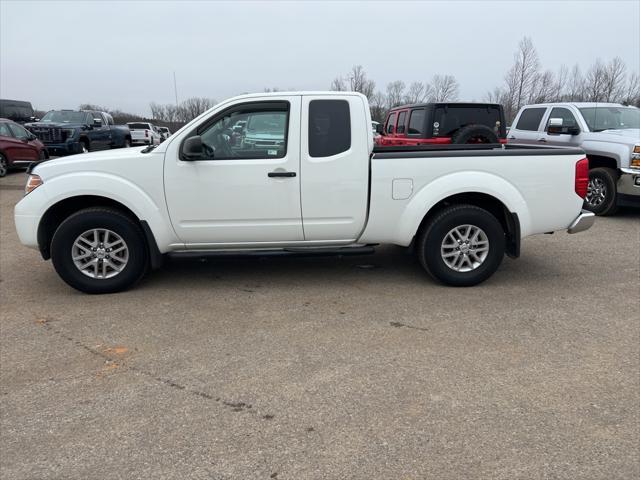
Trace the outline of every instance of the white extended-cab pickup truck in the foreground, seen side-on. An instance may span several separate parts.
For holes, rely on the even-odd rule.
[[[239,122],[252,125],[244,141]],[[15,207],[21,242],[71,286],[115,292],[164,255],[370,253],[413,246],[436,279],[477,284],[529,235],[589,228],[579,149],[374,151],[366,97],[243,95],[158,147],[37,165]]]

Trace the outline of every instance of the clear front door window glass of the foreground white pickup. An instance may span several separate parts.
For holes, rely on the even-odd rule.
[[[289,104],[246,105],[199,132],[204,160],[282,158],[287,153]]]

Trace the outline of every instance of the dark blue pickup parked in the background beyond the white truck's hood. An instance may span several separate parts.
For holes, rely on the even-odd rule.
[[[131,146],[126,125],[115,125],[106,112],[51,110],[39,122],[27,123],[52,155],[72,155]]]

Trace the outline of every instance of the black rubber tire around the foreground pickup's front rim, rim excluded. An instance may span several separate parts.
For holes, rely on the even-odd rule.
[[[92,278],[80,271],[72,259],[76,239],[92,229],[108,229],[119,235],[128,248],[123,270],[111,278]],[[51,260],[58,275],[85,293],[115,293],[126,290],[146,273],[149,254],[140,226],[121,212],[109,208],[87,208],[65,219],[51,240]]]

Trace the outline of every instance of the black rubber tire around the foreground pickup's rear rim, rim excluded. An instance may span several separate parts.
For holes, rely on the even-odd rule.
[[[456,271],[445,263],[441,246],[453,229],[464,225],[481,229],[488,240],[488,252],[477,267]],[[473,250],[471,243],[465,247],[467,251]],[[447,285],[469,287],[483,282],[498,269],[504,258],[505,233],[498,219],[488,211],[474,205],[453,205],[429,221],[418,239],[417,249],[420,264],[433,278]],[[473,254],[470,252],[469,258]]]

